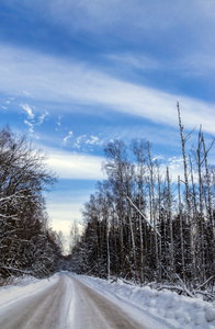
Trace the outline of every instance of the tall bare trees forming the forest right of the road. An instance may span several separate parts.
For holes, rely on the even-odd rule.
[[[73,228],[71,265],[78,273],[136,282],[197,286],[215,273],[215,170],[200,129],[188,156],[180,109],[183,177],[171,181],[149,141],[104,148],[108,180],[84,204],[84,230]],[[213,144],[213,143],[212,143]]]

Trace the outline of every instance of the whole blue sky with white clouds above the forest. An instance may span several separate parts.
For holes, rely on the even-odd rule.
[[[0,1],[0,123],[48,154],[54,229],[81,219],[110,140],[146,138],[181,170],[177,102],[184,132],[202,124],[210,144],[214,35],[212,0]]]

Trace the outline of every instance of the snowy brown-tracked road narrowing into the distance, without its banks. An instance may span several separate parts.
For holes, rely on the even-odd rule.
[[[140,317],[138,320],[67,274],[60,274],[54,283],[0,309],[1,329],[149,328],[143,325]]]

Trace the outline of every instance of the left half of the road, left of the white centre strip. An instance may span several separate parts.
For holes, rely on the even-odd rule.
[[[35,290],[0,309],[1,329],[59,328],[60,305],[66,293],[64,276],[54,283]]]

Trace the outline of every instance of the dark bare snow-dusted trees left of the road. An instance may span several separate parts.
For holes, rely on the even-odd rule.
[[[0,277],[43,277],[60,262],[60,239],[48,227],[42,194],[56,181],[45,159],[25,137],[0,131]]]

